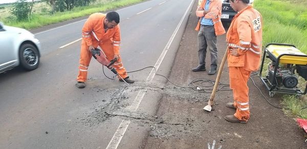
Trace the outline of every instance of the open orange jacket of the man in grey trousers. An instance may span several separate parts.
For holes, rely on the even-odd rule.
[[[204,0],[202,4],[200,5],[200,7],[205,9],[205,4],[207,1],[209,0]],[[206,15],[204,15],[203,11],[196,10],[196,16],[212,19],[216,36],[226,33],[223,27],[223,24],[221,22],[222,1],[221,0],[211,0],[209,10],[210,10],[209,13],[207,13]],[[196,26],[195,30],[199,31],[200,28],[201,28],[201,19],[199,20],[199,23]]]

